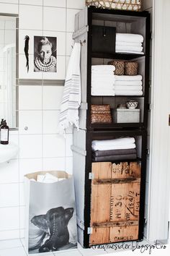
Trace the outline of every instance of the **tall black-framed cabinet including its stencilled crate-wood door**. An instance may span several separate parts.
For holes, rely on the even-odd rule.
[[[92,51],[93,25],[115,27],[117,33],[134,33],[143,35],[144,54],[109,54],[108,52],[97,52],[95,51],[94,47]],[[82,103],[79,109],[80,129],[79,131],[76,128],[73,129],[72,145],[73,176],[76,192],[76,210],[79,243],[83,247],[89,247],[91,244],[112,243],[127,240],[141,240],[143,239],[146,183],[150,14],[148,12],[118,11],[86,7],[84,10],[76,14],[75,32],[73,33],[73,39],[75,40],[75,42],[81,42]],[[143,77],[142,96],[91,95],[91,65],[107,64],[112,59],[138,61],[138,74],[141,74]],[[138,108],[140,108],[140,121],[138,123],[116,123],[113,119],[111,124],[91,124],[92,104],[109,104],[111,108],[116,108],[117,104],[125,103],[126,101],[131,99],[135,99],[136,101],[138,101]],[[120,181],[120,187],[122,187],[122,189],[125,189],[127,187],[127,179],[129,179],[129,186],[137,186],[136,195],[138,194],[138,203],[136,202],[135,199],[135,201],[131,203],[133,205],[133,211],[138,210],[138,216],[136,215],[135,211],[135,217],[128,219],[128,221],[133,222],[130,229],[126,229],[126,227],[128,226],[126,218],[124,219],[122,217],[122,219],[120,220],[121,223],[118,223],[119,220],[116,221],[114,218],[110,218],[110,214],[112,216],[112,211],[110,208],[110,204],[112,202],[109,199],[110,197],[108,197],[107,200],[104,200],[104,195],[102,196],[104,190],[103,192],[99,192],[98,189],[99,194],[101,193],[100,201],[100,197],[97,194],[97,192],[95,192],[96,189],[94,188],[94,186],[96,185],[99,186],[101,182],[99,180],[102,179],[102,182],[104,182],[105,186],[107,187],[107,191],[108,189],[113,189],[113,194],[115,192],[114,195],[116,195],[116,190],[114,191],[114,189],[119,189],[119,186],[116,186],[115,183],[119,182],[118,179],[120,179],[120,177],[115,178],[112,175],[106,176],[104,174],[104,171],[102,171],[103,176],[99,176],[99,174],[97,174],[97,164],[92,163],[91,158],[91,142],[92,140],[109,140],[119,137],[135,137],[137,158],[133,161],[129,161],[128,159],[125,159],[121,162],[106,161],[106,166],[112,166],[113,164],[117,164],[118,166],[120,164],[121,166],[122,163],[125,163],[128,166],[140,166],[140,176],[123,176]],[[101,164],[99,163],[99,166],[101,166]],[[99,167],[99,172],[100,171],[101,168]],[[95,175],[97,175],[97,178],[95,177],[94,173]],[[135,193],[134,189],[133,192]],[[98,202],[95,202],[95,197],[97,197],[97,200],[100,202],[101,205],[102,201],[105,201],[103,202],[104,205],[101,208],[103,219],[100,220],[99,218],[96,217],[96,221],[95,216],[99,217],[100,213],[99,207],[97,208]],[[106,208],[105,217],[104,208]],[[109,210],[107,208],[109,208]],[[114,209],[112,210],[114,211]],[[116,229],[114,228],[116,225],[120,225],[120,230],[116,231]],[[122,231],[121,225],[124,226],[124,233],[127,235],[123,235],[124,233]],[[99,228],[100,235],[97,234],[97,229]],[[103,235],[101,233],[101,230],[104,232]],[[122,232],[122,239],[115,239],[115,237],[118,237],[117,232]],[[133,234],[135,234],[135,236],[133,236]]]

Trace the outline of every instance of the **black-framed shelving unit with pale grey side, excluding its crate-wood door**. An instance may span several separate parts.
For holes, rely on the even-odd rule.
[[[131,26],[128,33],[142,34],[144,37],[144,55],[92,52],[92,25],[102,25],[102,22],[104,22],[105,25],[107,25],[108,22],[109,25],[115,26],[121,22],[125,27]],[[119,28],[119,30],[121,29]],[[122,30],[124,30],[124,28],[122,28]],[[84,42],[81,47],[82,104],[80,109],[80,129],[79,131],[76,129],[73,130],[72,148],[79,242],[82,246],[89,247],[89,236],[91,232],[91,142],[92,140],[109,140],[116,137],[135,137],[138,144],[139,153],[135,161],[141,163],[140,218],[138,231],[138,240],[141,240],[143,239],[146,183],[150,14],[148,12],[119,11],[89,7],[76,14],[73,38],[76,42]],[[143,72],[144,88],[142,96],[91,96],[91,65],[97,63],[97,61],[100,63],[100,60],[101,63],[107,64],[108,59],[139,61],[140,70]],[[105,102],[115,101],[117,98],[119,98],[120,101],[125,101],[125,98],[135,98],[141,101],[142,117],[140,118],[140,122],[91,124],[91,104],[98,102],[104,104]],[[128,160],[125,159],[125,161]],[[120,161],[113,162],[119,163]]]

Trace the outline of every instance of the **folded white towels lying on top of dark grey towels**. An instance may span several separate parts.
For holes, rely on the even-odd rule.
[[[134,137],[123,137],[115,140],[93,140],[92,150],[120,150],[135,148]]]

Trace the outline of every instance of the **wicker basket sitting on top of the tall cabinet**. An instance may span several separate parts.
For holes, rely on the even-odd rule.
[[[94,6],[103,9],[140,11],[141,0],[86,0],[86,6]]]

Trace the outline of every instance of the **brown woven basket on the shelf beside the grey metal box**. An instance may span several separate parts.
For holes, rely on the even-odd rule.
[[[109,105],[91,105],[91,124],[94,123],[112,123]]]

